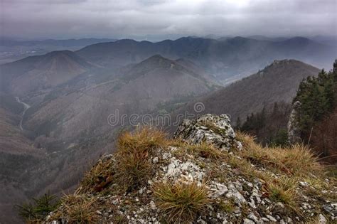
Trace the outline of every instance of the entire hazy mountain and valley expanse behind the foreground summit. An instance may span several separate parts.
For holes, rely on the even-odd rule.
[[[95,43],[0,65],[0,220],[10,222],[9,205],[29,196],[71,191],[91,161],[114,150],[114,137],[133,128],[123,114],[139,115],[134,122],[175,117],[203,102],[203,113],[244,118],[290,102],[299,82],[319,71],[306,63],[323,68],[335,57],[336,48],[306,38],[188,37]]]

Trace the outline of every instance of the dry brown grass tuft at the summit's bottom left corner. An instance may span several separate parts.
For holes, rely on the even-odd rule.
[[[52,220],[66,217],[68,223],[97,223],[97,198],[89,198],[82,194],[67,195],[61,199],[62,213],[53,215]],[[60,211],[59,211],[60,212]]]

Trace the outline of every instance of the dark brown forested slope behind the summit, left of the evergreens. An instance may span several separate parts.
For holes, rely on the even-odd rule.
[[[291,102],[301,80],[317,73],[318,68],[298,60],[275,60],[254,75],[196,98],[173,112],[173,116],[184,111],[196,114],[193,107],[196,102],[202,102],[205,109],[201,113],[226,113],[232,122],[236,122],[237,117],[243,122],[247,115],[272,107],[274,102]]]

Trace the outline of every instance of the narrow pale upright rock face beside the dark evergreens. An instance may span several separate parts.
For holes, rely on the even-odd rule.
[[[301,142],[301,132],[299,130],[299,108],[301,107],[301,102],[296,101],[294,105],[292,105],[291,113],[289,116],[288,122],[288,139],[291,144],[295,144],[297,142]]]

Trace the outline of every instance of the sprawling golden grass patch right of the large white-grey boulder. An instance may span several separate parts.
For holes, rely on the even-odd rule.
[[[229,156],[229,164],[240,169],[246,176],[262,179],[265,183],[264,191],[270,200],[281,202],[290,212],[301,215],[298,206],[301,198],[296,193],[296,187],[300,179],[312,178],[311,174],[317,176],[316,181],[321,182],[324,171],[318,157],[303,144],[269,148],[256,144],[254,138],[247,134],[237,133],[237,138],[243,146],[242,151],[237,151],[242,159]],[[264,169],[259,171],[259,167]],[[279,174],[281,178],[270,174]]]

